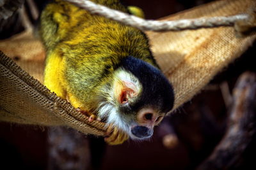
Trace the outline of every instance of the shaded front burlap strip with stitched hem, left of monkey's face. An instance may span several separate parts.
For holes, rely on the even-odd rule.
[[[0,119],[38,125],[68,125],[102,136],[106,125],[76,111],[0,52]]]

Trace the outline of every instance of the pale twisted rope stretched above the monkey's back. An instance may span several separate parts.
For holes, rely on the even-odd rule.
[[[122,22],[125,25],[136,27],[142,31],[181,31],[184,29],[199,29],[207,27],[233,26],[237,21],[249,20],[250,15],[240,14],[230,17],[196,18],[173,21],[144,20],[134,15],[129,15],[106,6],[95,4],[88,0],[66,0],[90,11],[92,14],[101,15],[111,20]]]

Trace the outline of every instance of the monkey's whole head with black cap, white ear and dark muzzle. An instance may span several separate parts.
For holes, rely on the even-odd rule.
[[[109,111],[108,122],[134,139],[151,137],[154,125],[173,107],[172,85],[163,73],[131,56],[120,62],[112,89],[114,107]]]

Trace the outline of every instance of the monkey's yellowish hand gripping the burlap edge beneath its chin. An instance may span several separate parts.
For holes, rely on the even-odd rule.
[[[107,129],[107,136],[108,137],[105,138],[105,141],[109,145],[120,145],[129,138],[128,134],[113,125],[109,125]]]

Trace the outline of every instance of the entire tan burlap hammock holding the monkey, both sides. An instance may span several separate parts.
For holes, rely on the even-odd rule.
[[[163,18],[218,17],[246,13],[253,0],[216,1]],[[175,91],[173,110],[189,101],[216,73],[252,45],[256,34],[237,38],[233,27],[146,32],[152,52]],[[31,31],[0,41],[0,120],[20,124],[67,125],[103,136],[106,125],[88,122],[67,101],[42,85],[45,52]],[[24,71],[26,70],[26,71]],[[33,78],[33,77],[34,78]],[[37,80],[36,80],[37,79]]]

